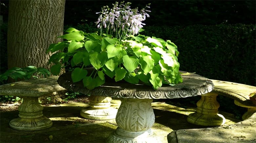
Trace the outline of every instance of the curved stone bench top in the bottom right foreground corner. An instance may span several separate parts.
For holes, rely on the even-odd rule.
[[[256,113],[235,124],[173,131],[167,138],[170,143],[255,143],[255,133]]]

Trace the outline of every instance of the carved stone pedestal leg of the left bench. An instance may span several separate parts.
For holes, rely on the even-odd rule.
[[[23,97],[18,107],[19,118],[12,119],[10,127],[22,131],[34,131],[49,128],[53,122],[43,115],[43,106],[38,103],[38,97]]]

